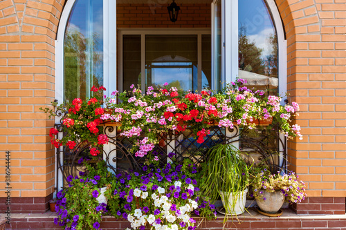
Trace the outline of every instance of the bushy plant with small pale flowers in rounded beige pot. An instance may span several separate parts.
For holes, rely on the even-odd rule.
[[[264,215],[280,215],[284,202],[299,203],[306,197],[304,182],[293,172],[272,174],[264,169],[255,176],[252,186],[253,197]]]

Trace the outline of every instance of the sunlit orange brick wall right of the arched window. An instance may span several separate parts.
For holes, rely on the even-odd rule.
[[[303,140],[290,169],[309,196],[346,196],[346,1],[276,1],[287,37],[287,88],[300,104]],[[345,204],[345,200],[343,201]]]

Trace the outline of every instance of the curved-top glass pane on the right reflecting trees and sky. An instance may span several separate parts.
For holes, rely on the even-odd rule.
[[[277,33],[265,1],[239,1],[239,77],[277,94]],[[249,7],[251,6],[251,7]]]

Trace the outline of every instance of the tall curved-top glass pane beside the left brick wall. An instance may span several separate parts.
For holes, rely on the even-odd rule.
[[[64,37],[64,100],[90,97],[103,85],[103,1],[78,0]]]

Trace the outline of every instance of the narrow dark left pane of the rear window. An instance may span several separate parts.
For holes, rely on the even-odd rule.
[[[122,37],[122,73],[123,90],[136,87],[141,81],[140,35],[124,35]]]

